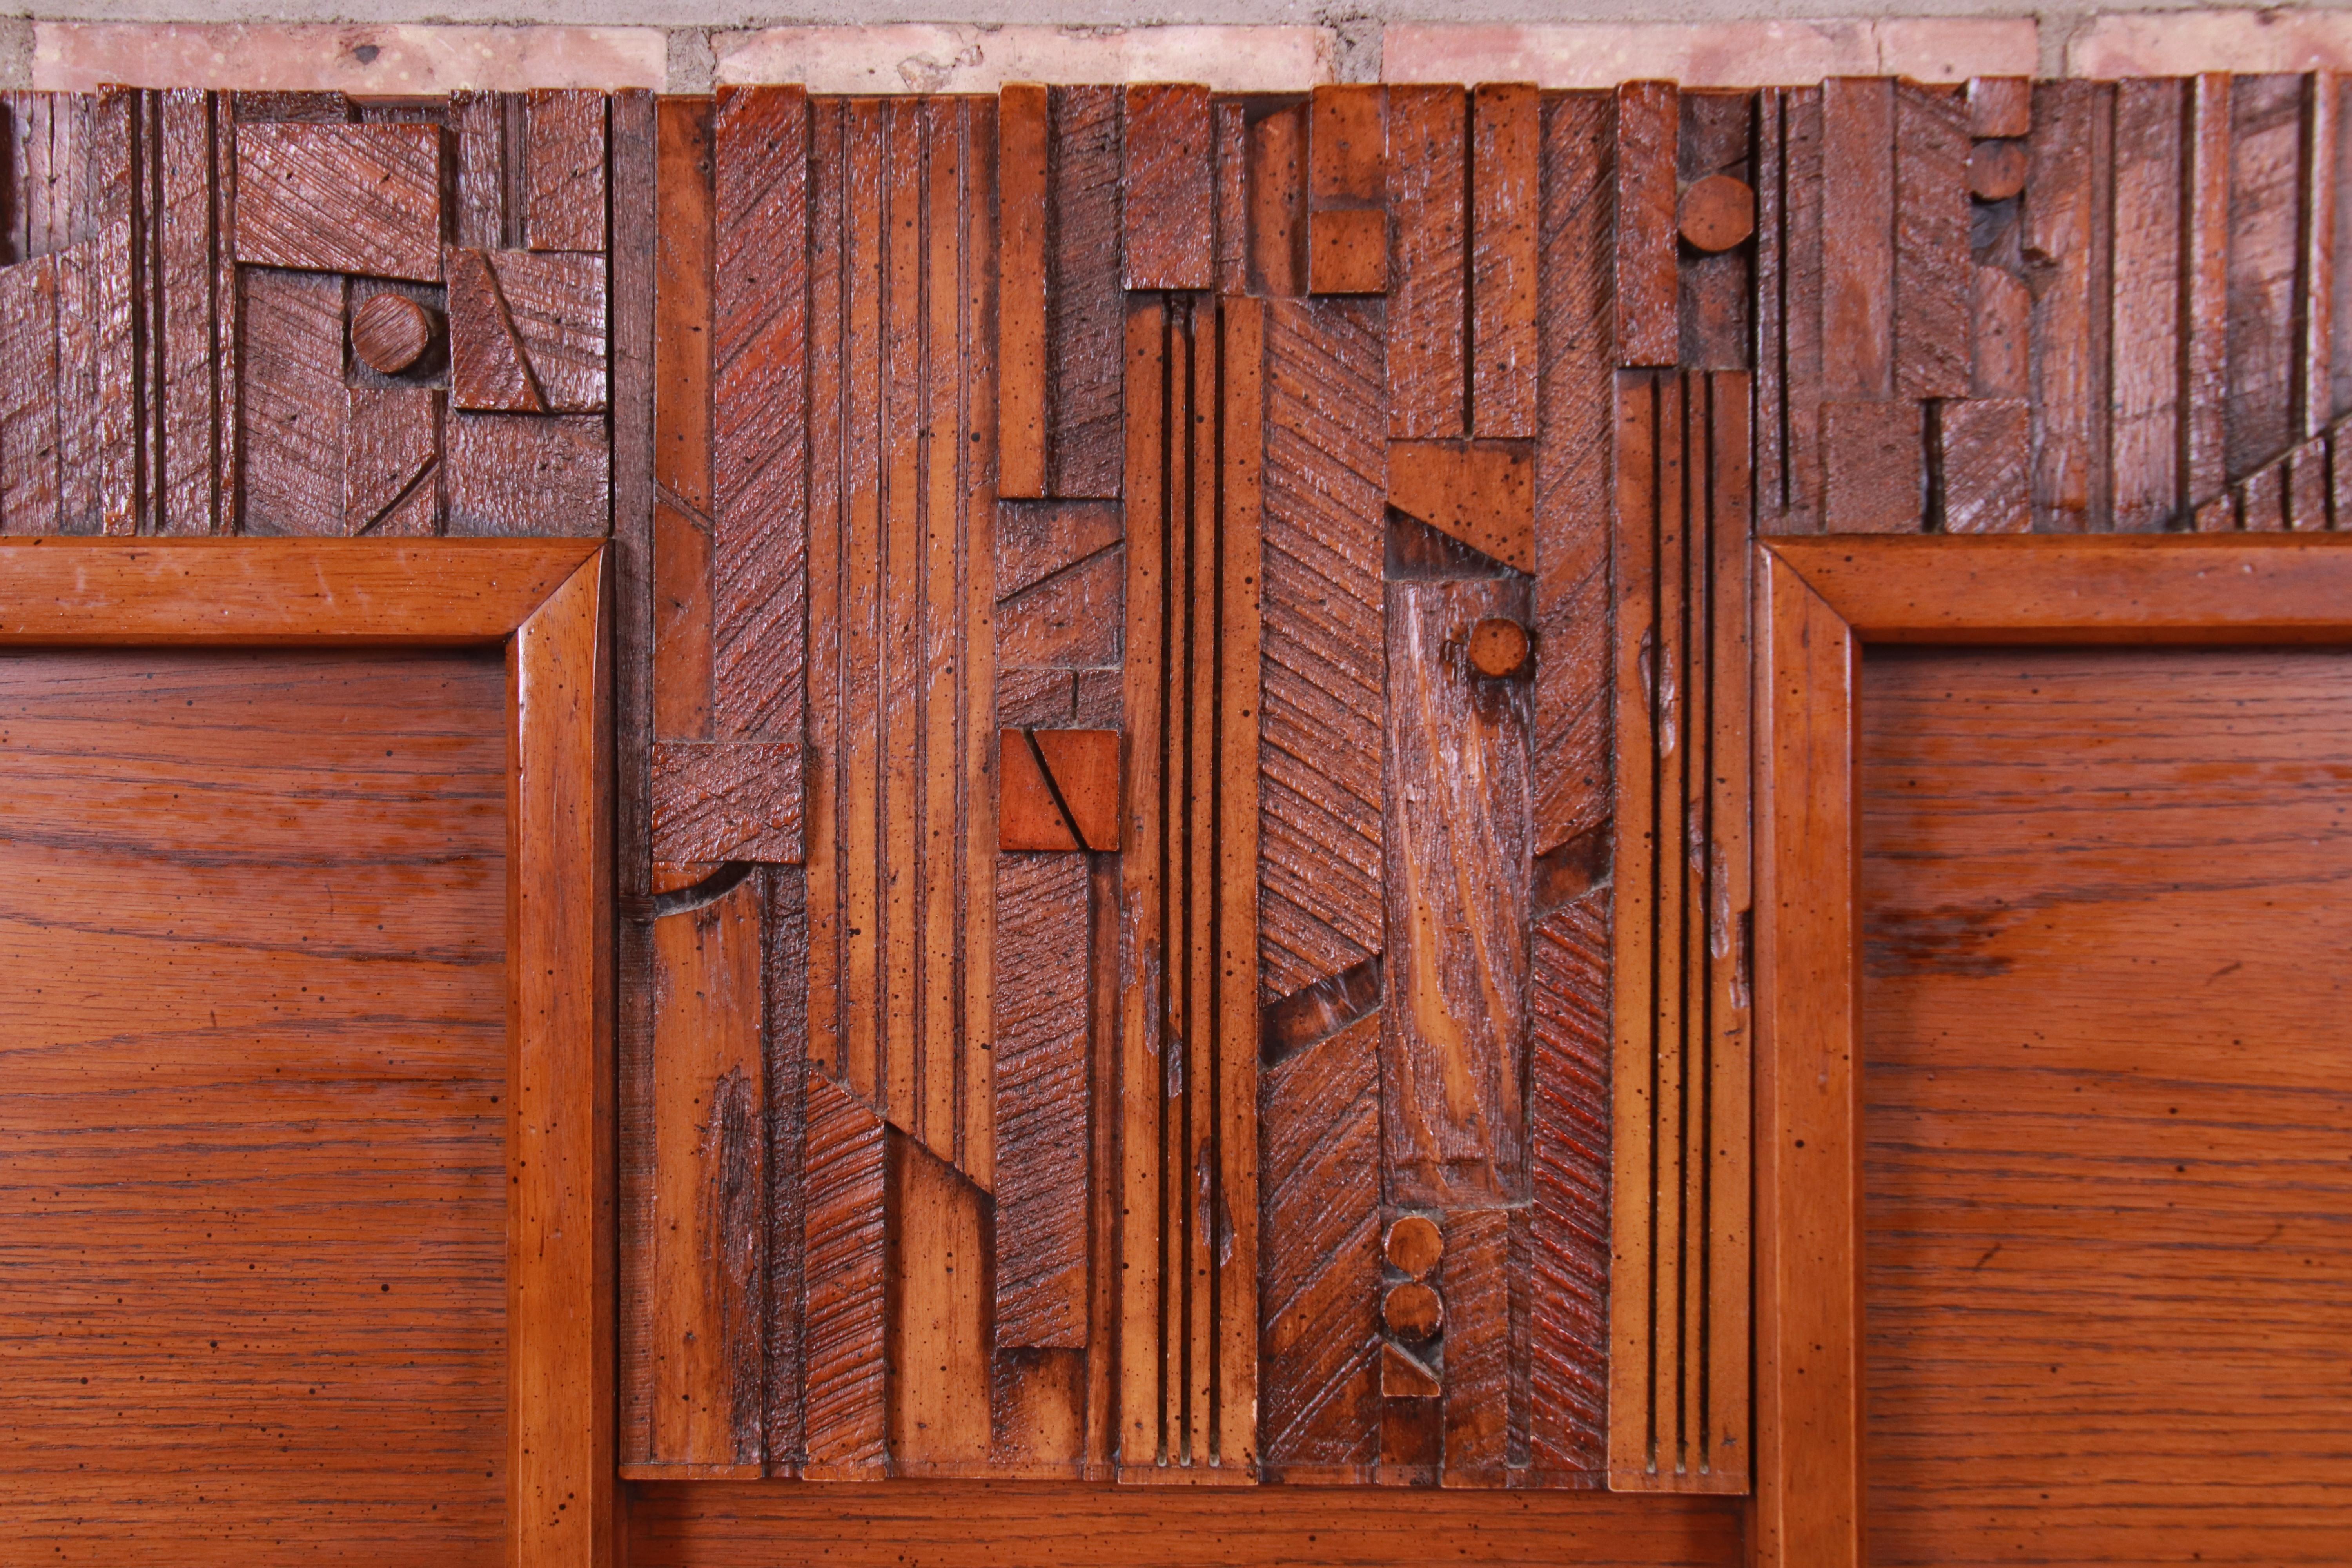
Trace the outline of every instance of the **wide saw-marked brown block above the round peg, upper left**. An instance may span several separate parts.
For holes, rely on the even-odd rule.
[[[238,261],[440,282],[440,127],[238,127]]]

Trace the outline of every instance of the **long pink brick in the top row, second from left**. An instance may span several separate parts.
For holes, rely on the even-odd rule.
[[[995,92],[1004,82],[1204,82],[1296,92],[1331,80],[1327,28],[760,28],[713,40],[720,82],[809,92]]]

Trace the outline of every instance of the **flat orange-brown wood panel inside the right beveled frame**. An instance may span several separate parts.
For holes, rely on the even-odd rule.
[[[2352,654],[1863,661],[1867,1561],[2352,1542]]]

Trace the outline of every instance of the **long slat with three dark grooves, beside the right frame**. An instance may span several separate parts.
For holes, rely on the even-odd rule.
[[[1609,1483],[1745,1490],[1745,374],[1618,374]]]

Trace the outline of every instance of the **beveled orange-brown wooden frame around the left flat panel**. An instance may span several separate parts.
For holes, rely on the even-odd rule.
[[[612,588],[602,541],[7,538],[0,646],[506,646],[508,1568],[607,1568]]]

